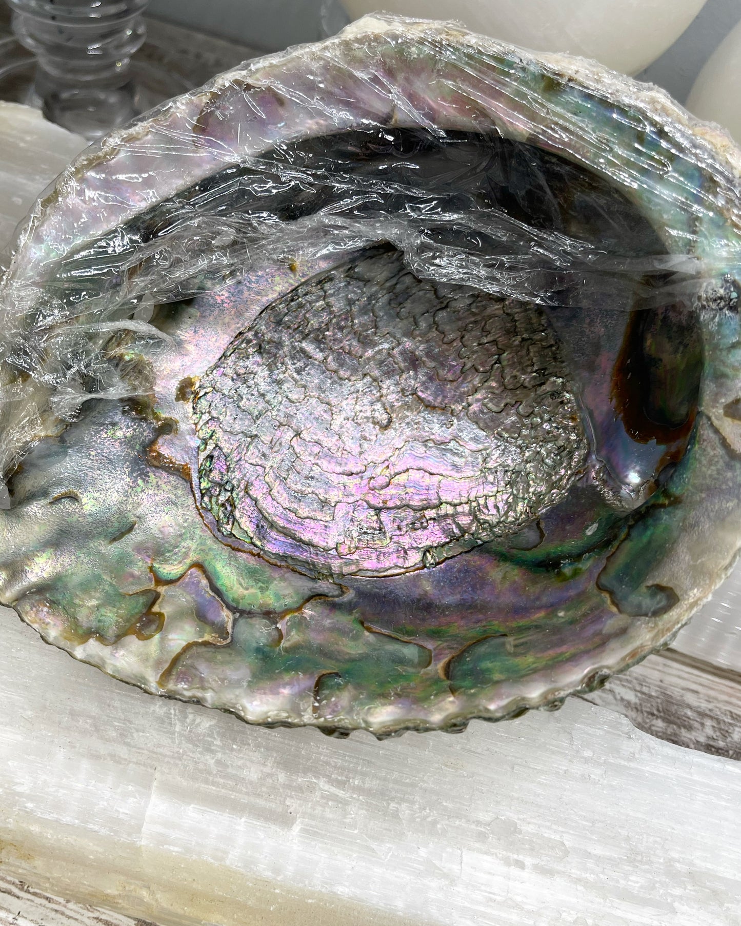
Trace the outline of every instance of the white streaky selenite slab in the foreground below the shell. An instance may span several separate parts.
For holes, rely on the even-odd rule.
[[[0,612],[4,870],[163,922],[738,926],[741,764],[576,700],[379,744],[113,682]]]

